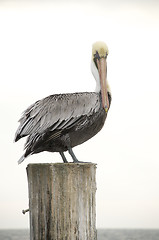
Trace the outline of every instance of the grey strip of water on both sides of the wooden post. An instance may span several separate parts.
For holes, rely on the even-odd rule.
[[[0,240],[29,240],[29,230],[0,230]],[[159,240],[159,229],[98,229],[98,240]]]

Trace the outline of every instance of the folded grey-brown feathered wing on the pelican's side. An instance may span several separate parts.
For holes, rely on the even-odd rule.
[[[21,119],[15,141],[27,135],[43,134],[47,129],[69,128],[84,115],[100,108],[98,93],[70,93],[50,95],[28,107]]]

